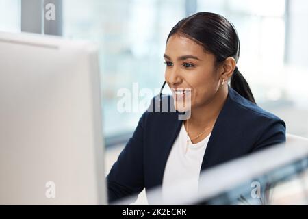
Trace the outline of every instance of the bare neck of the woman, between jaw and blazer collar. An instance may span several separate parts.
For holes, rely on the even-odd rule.
[[[218,89],[214,97],[202,106],[192,109],[189,119],[190,125],[204,127],[205,125],[214,125],[220,110],[228,96],[228,86]]]

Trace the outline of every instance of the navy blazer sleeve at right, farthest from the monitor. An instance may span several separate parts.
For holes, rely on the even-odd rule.
[[[279,118],[271,118],[265,124],[264,129],[261,131],[259,140],[256,142],[253,151],[266,149],[268,146],[274,144],[284,143],[285,137],[285,122]]]

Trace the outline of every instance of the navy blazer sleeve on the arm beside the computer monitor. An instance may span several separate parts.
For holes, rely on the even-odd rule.
[[[142,114],[133,136],[125,145],[106,177],[108,202],[137,195],[144,188],[144,123],[146,113]]]

